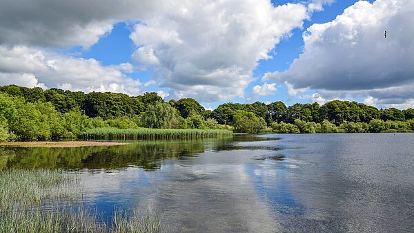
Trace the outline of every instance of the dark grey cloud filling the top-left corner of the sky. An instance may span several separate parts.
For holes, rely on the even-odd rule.
[[[117,21],[139,20],[159,1],[1,1],[0,44],[88,48]]]

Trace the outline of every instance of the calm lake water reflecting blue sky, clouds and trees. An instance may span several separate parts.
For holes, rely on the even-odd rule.
[[[86,203],[164,232],[414,232],[414,134],[235,136],[0,149],[0,169],[81,171]]]

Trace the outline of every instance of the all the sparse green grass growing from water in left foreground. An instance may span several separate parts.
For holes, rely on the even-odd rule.
[[[48,169],[0,172],[0,232],[160,232],[159,216],[117,209],[99,221],[82,207],[83,186],[76,174]]]

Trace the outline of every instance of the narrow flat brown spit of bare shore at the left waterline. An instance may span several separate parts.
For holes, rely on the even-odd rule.
[[[67,141],[67,142],[0,142],[0,147],[99,147],[127,145],[125,142],[94,142],[94,141]]]

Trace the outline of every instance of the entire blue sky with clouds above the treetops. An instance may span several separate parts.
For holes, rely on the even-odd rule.
[[[413,0],[0,0],[0,85],[414,108],[412,15]]]

